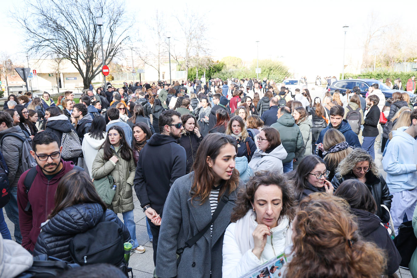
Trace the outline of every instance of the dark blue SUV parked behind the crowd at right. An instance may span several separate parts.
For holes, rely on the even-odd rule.
[[[330,85],[328,90],[333,95],[334,90],[339,89],[340,93],[345,95],[347,89],[353,90],[354,86],[358,86],[361,89],[362,96],[365,97],[366,93],[368,92],[368,88],[371,87],[375,83],[379,85],[379,89],[382,91],[382,93],[384,93],[385,98],[391,98],[393,93],[400,92],[400,93],[408,93],[410,96],[410,101],[412,103],[415,103],[417,100],[417,95],[414,95],[413,93],[409,93],[407,91],[392,90],[387,85],[385,85],[384,83],[376,79],[345,79],[345,80],[334,81],[332,85]]]

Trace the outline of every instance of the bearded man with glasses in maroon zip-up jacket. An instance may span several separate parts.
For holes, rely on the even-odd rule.
[[[32,149],[30,154],[38,165],[20,176],[17,190],[22,246],[31,252],[40,233],[40,225],[48,220],[55,207],[55,192],[60,179],[78,167],[61,158],[61,141],[52,132],[36,133]],[[28,191],[26,185],[30,186]]]

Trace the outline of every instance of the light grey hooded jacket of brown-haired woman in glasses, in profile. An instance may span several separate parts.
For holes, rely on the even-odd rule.
[[[270,153],[265,153],[263,150],[254,153],[251,161],[249,162],[249,167],[252,168],[254,172],[260,170],[269,170],[282,174],[284,173],[282,160],[284,160],[286,156],[287,152],[284,149],[284,146],[280,144]]]

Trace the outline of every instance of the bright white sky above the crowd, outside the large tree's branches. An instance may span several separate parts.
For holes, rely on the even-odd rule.
[[[0,49],[25,60],[24,38],[10,26],[10,5],[24,9],[21,0],[0,0],[2,44]],[[13,4],[12,4],[13,3]],[[111,3],[111,2],[109,2]],[[410,36],[415,30],[416,2],[411,0],[351,0],[351,1],[137,1],[126,0],[128,13],[138,18],[139,28],[156,8],[163,10],[168,26],[176,26],[171,16],[204,17],[209,48],[216,58],[236,56],[243,60],[256,59],[256,40],[259,40],[259,59],[282,57],[290,68],[342,68],[342,26],[349,25],[346,52],[357,53],[363,46],[367,20],[373,12],[381,24],[399,23]],[[156,6],[157,5],[157,6]],[[394,6],[395,5],[395,6]],[[206,6],[206,7],[205,7]],[[186,10],[186,15],[183,11]],[[408,16],[407,12],[412,11]],[[173,37],[177,30],[170,30]],[[146,33],[146,32],[144,32]],[[140,35],[140,34],[139,34]],[[143,39],[143,38],[142,38]],[[332,68],[332,70],[334,70]],[[319,73],[317,73],[319,74]]]

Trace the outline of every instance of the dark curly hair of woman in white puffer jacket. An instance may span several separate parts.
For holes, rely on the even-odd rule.
[[[255,192],[259,185],[276,185],[282,192],[282,211],[281,215],[287,215],[289,220],[294,219],[295,215],[295,199],[291,184],[286,182],[283,175],[270,171],[257,171],[255,175],[249,178],[246,186],[242,188],[237,196],[236,206],[231,215],[231,222],[236,222],[244,217],[248,210],[252,209]]]

